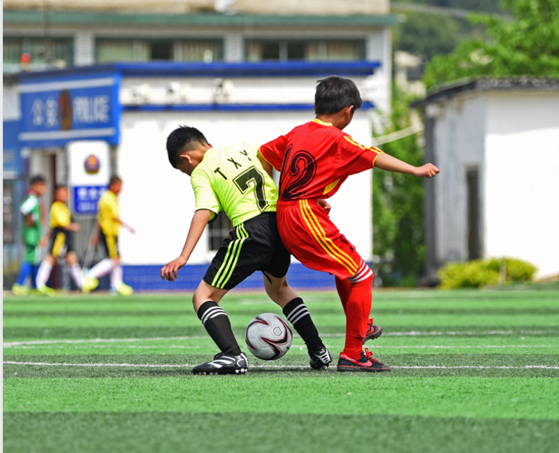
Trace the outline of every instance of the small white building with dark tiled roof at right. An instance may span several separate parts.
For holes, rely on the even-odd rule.
[[[438,87],[424,110],[428,271],[514,257],[559,275],[559,80],[481,78]]]

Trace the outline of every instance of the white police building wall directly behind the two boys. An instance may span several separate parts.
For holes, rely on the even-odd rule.
[[[356,113],[346,131],[356,141],[370,143],[366,112]],[[312,112],[177,112],[131,113],[122,117],[118,173],[124,180],[119,196],[122,219],[136,229],[123,231],[119,249],[124,264],[164,264],[180,254],[194,213],[190,179],[170,166],[166,138],[179,124],[200,129],[215,147],[238,141],[266,143],[312,120]],[[371,172],[349,178],[331,198],[332,219],[363,259],[372,255]],[[191,264],[213,256],[201,238]]]

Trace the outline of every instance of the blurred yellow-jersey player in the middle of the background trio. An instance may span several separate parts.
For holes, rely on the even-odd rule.
[[[37,271],[37,290],[42,294],[51,295],[54,289],[47,286],[52,266],[55,266],[57,258],[66,258],[70,266],[70,275],[75,285],[82,288],[82,269],[78,263],[78,257],[73,251],[73,233],[80,231],[80,225],[72,222],[68,206],[68,187],[57,185],[55,189],[55,202],[52,203],[49,213],[49,231],[41,239],[41,245],[45,245],[49,238],[50,253],[41,263]]]

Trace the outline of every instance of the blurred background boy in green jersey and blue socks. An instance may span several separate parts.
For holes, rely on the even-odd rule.
[[[40,261],[39,243],[41,241],[41,227],[45,220],[45,206],[43,194],[47,190],[45,178],[35,175],[31,178],[29,191],[20,206],[20,213],[24,216],[22,226],[22,240],[25,247],[25,257],[17,275],[17,280],[12,286],[16,296],[29,294],[29,288],[24,286],[25,280],[31,277],[31,287],[35,287],[35,278]]]

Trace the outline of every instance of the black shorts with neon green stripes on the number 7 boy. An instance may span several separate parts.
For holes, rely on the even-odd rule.
[[[229,232],[204,281],[216,288],[232,289],[254,271],[282,278],[290,262],[291,255],[277,232],[275,213],[262,213]]]

